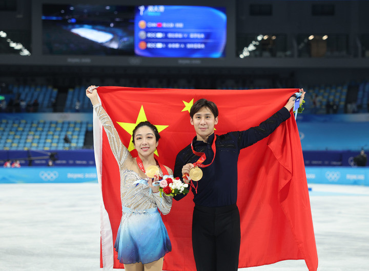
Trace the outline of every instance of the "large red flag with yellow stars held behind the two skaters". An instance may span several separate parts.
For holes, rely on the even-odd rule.
[[[191,90],[99,87],[101,103],[121,141],[131,151],[136,123],[149,120],[160,133],[158,159],[172,170],[177,153],[195,136],[189,110],[207,98],[219,109],[215,133],[246,130],[279,109],[298,89]],[[101,267],[124,268],[113,248],[121,218],[120,177],[107,136],[94,116],[96,168],[101,185]],[[135,157],[137,153],[132,150]],[[227,180],[224,180],[224,187]],[[226,189],[226,188],[225,188]],[[173,201],[162,216],[172,242],[163,270],[195,271],[192,254],[192,193]],[[241,216],[239,267],[303,259],[316,271],[316,251],[308,185],[295,118],[283,122],[269,137],[243,149],[238,161]]]

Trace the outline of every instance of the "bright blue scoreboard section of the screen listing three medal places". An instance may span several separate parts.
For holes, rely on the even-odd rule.
[[[146,57],[224,57],[225,8],[139,6],[135,13],[135,54]]]

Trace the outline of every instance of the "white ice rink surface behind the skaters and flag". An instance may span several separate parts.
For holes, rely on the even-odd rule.
[[[309,187],[318,270],[369,270],[369,187]],[[0,184],[0,270],[100,270],[99,202],[97,183]],[[239,270],[308,268],[299,260]]]

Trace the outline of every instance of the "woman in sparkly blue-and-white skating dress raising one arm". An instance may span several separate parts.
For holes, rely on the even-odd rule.
[[[96,87],[90,86],[86,95],[104,126],[119,165],[122,217],[114,244],[118,260],[124,263],[127,271],[162,270],[163,257],[171,251],[172,246],[157,208],[164,215],[168,214],[172,197],[163,193],[161,198],[159,186],[153,185],[153,182],[157,182],[159,176],[173,173],[168,166],[160,164],[154,158],[159,133],[149,121],[138,123],[133,130],[132,140],[138,157],[132,157],[120,141],[112,120],[99,103]],[[159,176],[148,178],[145,172],[152,165],[160,168]]]

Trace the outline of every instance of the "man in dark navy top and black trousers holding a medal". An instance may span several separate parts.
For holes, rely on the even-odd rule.
[[[300,102],[305,92],[301,95]],[[258,127],[215,136],[218,108],[214,102],[199,99],[190,110],[196,136],[176,157],[174,176],[192,181],[195,202],[192,221],[192,247],[197,271],[237,270],[240,250],[240,217],[237,201],[237,160],[240,150],[269,136],[290,118],[296,97],[291,97],[277,113]],[[197,172],[190,172],[195,168]],[[194,179],[195,180],[195,179]],[[224,185],[224,182],[227,185]],[[180,200],[185,195],[174,196]]]

